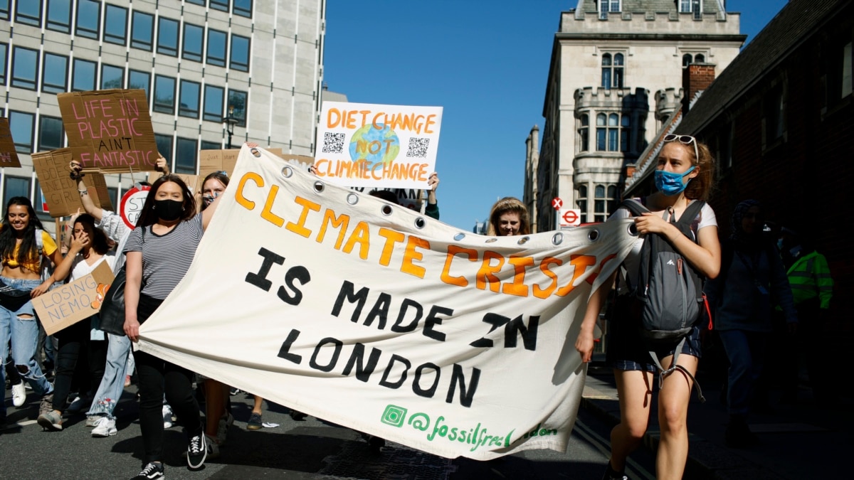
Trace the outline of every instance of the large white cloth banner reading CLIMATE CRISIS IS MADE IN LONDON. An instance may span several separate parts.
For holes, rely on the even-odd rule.
[[[632,220],[484,237],[260,152],[138,348],[432,454],[564,451],[581,319]]]

